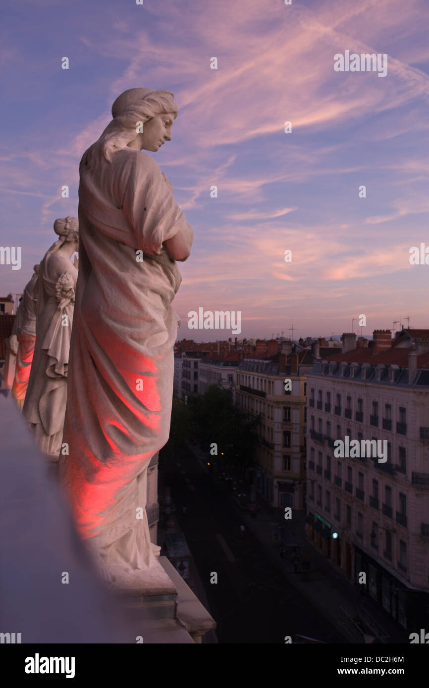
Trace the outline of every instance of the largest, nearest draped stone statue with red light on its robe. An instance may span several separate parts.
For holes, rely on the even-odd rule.
[[[180,325],[171,301],[191,226],[153,153],[171,140],[173,94],[130,89],[81,160],[79,279],[59,472],[81,536],[119,588],[156,555],[147,466],[167,442]],[[159,566],[159,565],[158,565]],[[160,567],[159,567],[160,568]],[[128,582],[125,582],[125,581]]]

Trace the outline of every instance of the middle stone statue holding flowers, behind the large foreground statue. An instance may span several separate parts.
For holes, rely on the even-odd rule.
[[[59,239],[41,261],[37,280],[36,345],[23,414],[41,451],[53,462],[59,459],[72,332],[79,248],[77,217],[56,219]]]

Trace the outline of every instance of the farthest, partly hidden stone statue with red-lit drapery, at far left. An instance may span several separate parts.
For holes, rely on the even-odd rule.
[[[12,385],[14,396],[19,409],[22,410],[30,378],[34,344],[36,343],[36,282],[39,276],[39,266],[35,265],[32,278],[25,286],[19,304],[19,323],[17,325],[18,352],[15,365],[15,375]]]

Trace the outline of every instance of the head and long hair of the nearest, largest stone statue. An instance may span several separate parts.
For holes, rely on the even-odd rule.
[[[112,105],[113,120],[98,143],[107,159],[125,147],[156,152],[165,141],[171,140],[171,127],[177,114],[178,107],[170,91],[128,89]]]

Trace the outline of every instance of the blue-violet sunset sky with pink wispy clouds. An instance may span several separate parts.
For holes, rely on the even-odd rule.
[[[348,332],[359,314],[364,334],[428,327],[429,266],[408,260],[429,246],[424,0],[6,0],[2,15],[0,245],[23,258],[0,266],[1,295],[77,215],[79,160],[113,100],[151,87],[179,108],[153,155],[195,233],[179,338],[231,336],[189,330],[200,306],[240,310],[247,337]],[[334,72],[345,50],[388,54],[387,76]]]

